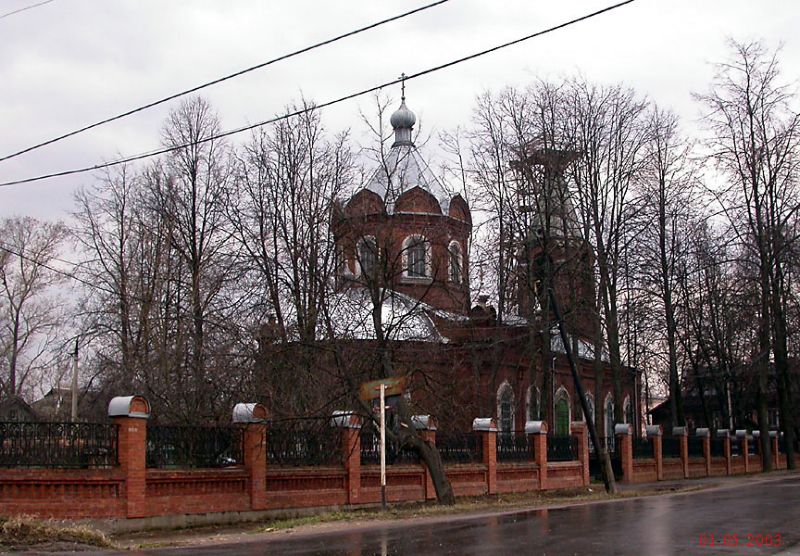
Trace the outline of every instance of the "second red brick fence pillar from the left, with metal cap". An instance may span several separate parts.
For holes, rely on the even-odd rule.
[[[233,422],[242,426],[244,469],[249,476],[250,509],[267,508],[267,408],[260,403],[239,403]]]

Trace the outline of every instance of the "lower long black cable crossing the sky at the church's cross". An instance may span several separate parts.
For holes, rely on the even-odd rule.
[[[481,50],[479,52],[475,52],[475,53],[470,54],[468,56],[464,56],[462,58],[458,58],[456,60],[452,60],[450,62],[447,62],[447,63],[444,63],[444,64],[440,64],[438,66],[434,66],[434,67],[419,71],[417,73],[413,73],[411,75],[407,75],[407,76],[404,76],[404,77],[399,77],[399,78],[396,78],[396,79],[392,79],[391,81],[387,81],[385,83],[381,83],[380,85],[375,85],[375,86],[369,87],[367,89],[362,89],[361,91],[358,91],[358,92],[355,92],[355,93],[350,93],[350,94],[341,96],[341,97],[339,97],[337,99],[329,100],[327,102],[323,102],[322,104],[317,104],[315,106],[311,106],[311,107],[308,107],[308,108],[302,108],[300,110],[295,110],[293,112],[288,112],[288,113],[286,113],[286,114],[284,114],[282,116],[276,116],[274,118],[270,118],[268,120],[263,120],[261,122],[255,123],[255,124],[251,124],[251,125],[247,125],[247,126],[231,129],[231,130],[228,130],[228,131],[224,131],[222,133],[218,133],[216,135],[210,135],[208,137],[205,137],[205,138],[200,139],[198,141],[194,141],[192,143],[184,143],[182,145],[176,145],[176,146],[173,146],[173,147],[165,147],[165,148],[161,148],[161,149],[157,149],[157,150],[152,150],[152,151],[148,151],[148,152],[145,152],[145,153],[129,156],[129,157],[126,157],[126,158],[120,158],[120,159],[117,159],[117,160],[113,160],[111,162],[104,162],[104,163],[101,163],[101,164],[96,164],[94,166],[86,166],[86,167],[83,167],[83,168],[76,168],[76,169],[72,169],[72,170],[62,170],[60,172],[53,172],[53,173],[50,173],[50,174],[43,174],[43,175],[32,177],[32,178],[25,178],[25,179],[21,179],[21,180],[3,182],[3,183],[0,183],[0,187],[9,187],[9,186],[12,186],[12,185],[20,185],[20,184],[23,184],[23,183],[32,183],[32,182],[42,181],[42,180],[46,180],[46,179],[50,179],[50,178],[69,176],[69,175],[73,175],[73,174],[82,174],[82,173],[85,173],[85,172],[93,172],[95,170],[101,170],[103,168],[110,168],[112,166],[118,166],[120,164],[127,164],[127,163],[130,163],[130,162],[136,162],[138,160],[142,160],[142,159],[145,159],[145,158],[150,158],[150,157],[153,157],[153,156],[158,156],[158,155],[161,155],[161,154],[167,154],[167,153],[170,153],[170,152],[178,151],[178,150],[184,149],[184,148],[186,148],[186,147],[188,147],[190,145],[207,143],[209,141],[214,141],[214,140],[217,140],[217,139],[222,139],[224,137],[229,137],[231,135],[236,135],[236,134],[242,133],[244,131],[249,131],[251,129],[255,129],[255,128],[258,128],[258,127],[263,127],[263,126],[271,124],[271,123],[279,122],[279,121],[282,121],[282,120],[288,120],[288,119],[293,118],[295,116],[299,116],[299,115],[305,114],[307,112],[311,112],[313,110],[319,110],[319,109],[322,109],[322,108],[327,108],[329,106],[333,106],[334,104],[339,104],[339,103],[344,102],[346,100],[350,100],[350,99],[353,99],[353,98],[357,98],[357,97],[364,96],[366,94],[378,91],[380,89],[383,89],[384,87],[388,87],[390,85],[395,85],[397,83],[400,83],[403,79],[405,79],[406,81],[409,81],[411,79],[416,79],[418,77],[422,77],[424,75],[428,75],[430,73],[434,73],[434,72],[437,72],[437,71],[440,71],[440,70],[455,66],[455,65],[460,64],[462,62],[466,62],[468,60],[473,60],[475,58],[479,58],[479,57],[484,56],[486,54],[490,54],[492,52],[496,52],[496,51],[501,50],[503,48],[507,48],[509,46],[513,46],[513,45],[519,44],[521,42],[525,42],[525,41],[528,41],[530,39],[533,39],[533,38],[536,38],[536,37],[540,37],[540,36],[546,35],[548,33],[552,33],[554,31],[558,31],[558,30],[563,29],[565,27],[569,27],[570,25],[574,25],[575,23],[579,23],[581,21],[585,21],[587,19],[591,19],[593,17],[596,17],[596,16],[604,14],[606,12],[615,10],[615,9],[620,8],[622,6],[625,6],[627,4],[631,4],[634,1],[635,0],[625,0],[624,2],[619,2],[617,4],[613,4],[611,6],[603,8],[602,10],[598,10],[598,11],[586,14],[584,16],[581,16],[581,17],[578,17],[578,18],[575,18],[575,19],[571,19],[571,20],[569,20],[567,22],[561,23],[561,24],[556,25],[554,27],[549,27],[548,29],[544,29],[542,31],[537,31],[536,33],[532,33],[530,35],[526,35],[526,36],[521,37],[519,39],[515,39],[513,41],[509,41],[509,42],[494,46],[492,48],[488,48],[486,50]]]

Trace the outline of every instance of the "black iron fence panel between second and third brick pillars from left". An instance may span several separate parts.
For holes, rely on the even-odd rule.
[[[271,465],[341,465],[342,430],[329,419],[298,419],[272,423],[267,430],[267,461]]]

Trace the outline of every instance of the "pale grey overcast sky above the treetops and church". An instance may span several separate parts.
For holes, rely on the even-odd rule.
[[[37,0],[0,0],[0,15]],[[224,74],[428,3],[292,0],[53,0],[0,19],[0,156]],[[267,119],[302,93],[318,103],[530,34],[611,0],[450,0],[333,46],[233,79],[202,94],[224,128]],[[787,79],[800,77],[796,0],[636,0],[547,36],[421,77],[407,102],[428,133],[469,125],[487,89],[581,72],[624,83],[677,111],[723,60],[727,37],[783,44]],[[399,98],[399,87],[387,91]],[[364,97],[323,113],[331,130],[364,137]],[[159,144],[169,106],[0,162],[0,182]],[[241,139],[236,139],[241,140]],[[0,216],[65,218],[90,174],[0,188]]]

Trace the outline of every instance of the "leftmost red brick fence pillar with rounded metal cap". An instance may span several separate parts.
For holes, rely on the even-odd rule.
[[[142,396],[118,396],[108,416],[119,427],[119,467],[125,476],[127,517],[147,515],[147,419],[150,404]]]

